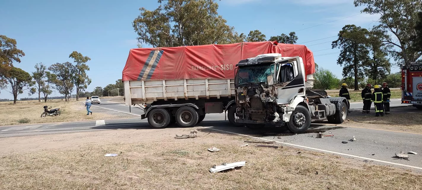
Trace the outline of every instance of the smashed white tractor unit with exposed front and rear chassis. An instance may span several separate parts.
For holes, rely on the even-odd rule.
[[[301,57],[261,54],[236,66],[236,123],[255,129],[287,125],[290,131],[302,133],[312,119],[346,120],[346,99],[310,90],[313,77],[306,75]]]

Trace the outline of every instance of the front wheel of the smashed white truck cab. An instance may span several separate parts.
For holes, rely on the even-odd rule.
[[[303,133],[311,126],[311,114],[305,106],[298,105],[296,106],[295,111],[293,111],[290,116],[289,122],[287,122],[287,128],[292,133]]]

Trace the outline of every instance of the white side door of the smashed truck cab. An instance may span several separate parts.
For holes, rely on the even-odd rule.
[[[289,104],[296,96],[305,96],[305,68],[301,57],[279,62],[276,71],[277,103]]]

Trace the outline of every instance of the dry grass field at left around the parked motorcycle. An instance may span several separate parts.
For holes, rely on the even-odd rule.
[[[60,116],[47,116],[42,117],[44,109],[43,106],[51,106],[54,108],[60,108]],[[2,102],[0,103],[0,125],[18,125],[22,124],[19,121],[27,118],[31,123],[50,123],[50,122],[69,122],[69,121],[86,121],[86,120],[98,120],[98,119],[119,119],[124,117],[132,117],[126,114],[110,114],[104,109],[91,107],[93,115],[86,115],[87,110],[84,107],[83,101],[70,101],[65,102],[61,100],[47,101],[47,103],[38,103],[38,100],[18,101],[16,105],[13,102]]]

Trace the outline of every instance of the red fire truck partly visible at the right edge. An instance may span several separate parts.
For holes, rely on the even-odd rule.
[[[422,62],[404,65],[401,73],[401,103],[422,109]]]

